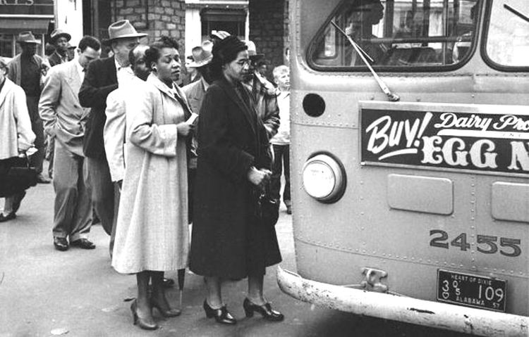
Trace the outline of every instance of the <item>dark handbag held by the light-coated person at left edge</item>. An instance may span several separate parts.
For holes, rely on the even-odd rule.
[[[28,157],[11,157],[1,160],[0,198],[14,196],[37,185],[37,170],[30,167]]]

